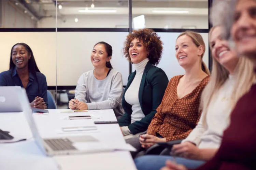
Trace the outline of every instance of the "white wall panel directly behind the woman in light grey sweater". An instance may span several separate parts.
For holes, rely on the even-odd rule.
[[[126,85],[129,63],[122,54],[126,32],[58,32],[57,33],[57,85],[76,85],[80,75],[93,69],[90,54],[93,46],[105,41],[112,46],[111,64],[123,75]]]

